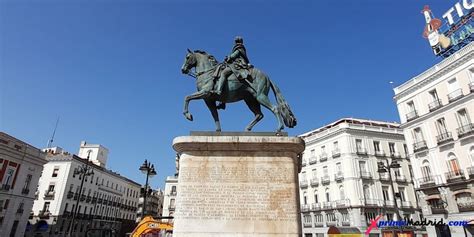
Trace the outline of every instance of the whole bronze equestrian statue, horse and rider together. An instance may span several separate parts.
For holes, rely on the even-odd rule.
[[[191,72],[191,69],[195,72]],[[188,111],[189,101],[203,99],[211,111],[216,124],[216,131],[221,131],[218,109],[225,109],[226,103],[244,100],[255,118],[247,125],[246,131],[263,118],[260,105],[272,111],[278,120],[277,132],[284,125],[289,128],[296,126],[296,118],[286,103],[280,89],[260,69],[249,64],[243,39],[236,37],[235,45],[223,63],[219,63],[214,56],[201,50],[188,49],[181,72],[196,78],[197,92],[184,99],[184,116],[192,121],[193,116]],[[277,105],[274,106],[268,98],[272,89]],[[216,102],[220,102],[217,105]]]

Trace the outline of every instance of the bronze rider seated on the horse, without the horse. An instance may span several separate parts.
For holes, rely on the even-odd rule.
[[[244,46],[244,40],[242,37],[235,37],[235,44],[232,48],[232,53],[225,58],[225,62],[228,67],[225,67],[222,72],[219,80],[217,80],[217,88],[213,91],[216,95],[220,96],[222,94],[222,89],[227,81],[227,78],[235,74],[237,79],[245,80],[249,76],[249,59],[247,58],[247,50]]]

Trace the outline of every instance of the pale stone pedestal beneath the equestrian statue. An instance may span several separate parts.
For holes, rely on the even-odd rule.
[[[304,142],[270,133],[192,133],[181,154],[173,236],[301,236]]]

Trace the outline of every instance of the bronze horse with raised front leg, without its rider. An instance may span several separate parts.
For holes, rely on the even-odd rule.
[[[181,72],[189,74],[195,68],[197,92],[188,95],[184,99],[184,116],[192,121],[193,116],[188,111],[189,101],[203,99],[211,111],[216,124],[216,131],[221,131],[219,114],[216,101],[223,103],[233,103],[244,100],[249,109],[255,114],[255,118],[247,125],[246,131],[251,131],[253,126],[263,118],[260,105],[272,111],[278,120],[277,132],[280,132],[285,124],[292,128],[296,125],[296,118],[291,112],[290,106],[286,103],[280,89],[270,80],[270,78],[258,68],[250,69],[251,80],[239,80],[235,75],[231,75],[223,88],[221,96],[212,93],[214,87],[214,74],[221,65],[212,56],[201,50],[194,52],[188,49]],[[270,88],[275,94],[277,106],[274,106],[268,98]]]

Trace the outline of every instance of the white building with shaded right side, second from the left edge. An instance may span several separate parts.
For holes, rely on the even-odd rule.
[[[28,236],[63,236],[70,228],[72,236],[84,236],[89,228],[110,228],[122,235],[135,227],[140,184],[107,170],[108,150],[101,145],[81,142],[78,154],[58,147],[47,150]],[[84,167],[91,170],[89,175],[77,173]]]

